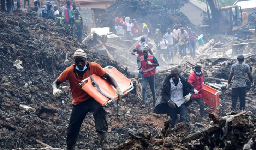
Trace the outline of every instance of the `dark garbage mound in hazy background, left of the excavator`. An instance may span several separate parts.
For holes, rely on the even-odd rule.
[[[171,12],[167,8],[153,5],[148,1],[137,0],[117,0],[107,8],[102,16],[97,17],[99,20],[96,20],[96,25],[99,27],[108,26],[111,31],[114,31],[114,20],[119,13],[129,16],[131,19],[136,19],[138,25],[149,22],[154,30],[157,24],[162,24],[162,31],[167,31],[167,28],[172,29],[175,24],[187,25],[192,29],[194,27],[187,16],[181,12]]]

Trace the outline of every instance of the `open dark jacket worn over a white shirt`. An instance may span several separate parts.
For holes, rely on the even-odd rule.
[[[187,82],[187,80],[183,76],[179,75],[179,78],[183,85],[183,96],[186,96],[189,93],[193,94],[194,86],[192,84],[190,84],[189,82]],[[166,114],[167,113],[167,108],[168,108],[167,102],[169,100],[171,100],[170,99],[170,97],[171,97],[171,95],[170,95],[170,90],[171,90],[170,79],[171,79],[171,74],[167,74],[165,79],[163,80],[163,88],[162,88],[161,96],[159,96],[157,98],[155,108],[153,110],[153,112],[156,114]],[[191,101],[191,99],[190,99],[190,101]],[[189,103],[190,102],[187,102],[187,104],[189,104]]]

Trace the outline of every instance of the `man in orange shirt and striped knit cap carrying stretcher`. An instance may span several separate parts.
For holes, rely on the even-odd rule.
[[[67,67],[52,84],[53,95],[58,97],[62,93],[62,91],[58,89],[59,85],[68,80],[71,95],[74,98],[72,101],[73,108],[69,126],[67,127],[67,150],[75,150],[80,127],[88,112],[93,112],[95,128],[96,132],[99,133],[102,149],[107,150],[109,147],[107,140],[108,124],[105,110],[100,103],[79,87],[79,83],[83,79],[96,74],[102,78],[106,78],[108,82],[115,87],[115,95],[118,95],[119,98],[123,96],[123,92],[118,87],[114,78],[103,70],[99,64],[87,61],[87,54],[82,49],[76,50],[74,53],[74,61],[75,64]]]

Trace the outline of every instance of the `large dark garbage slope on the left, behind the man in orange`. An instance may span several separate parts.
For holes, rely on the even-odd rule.
[[[52,82],[73,64],[76,49],[85,50],[88,61],[114,66],[128,78],[134,77],[115,61],[86,49],[69,26],[58,27],[31,13],[0,12],[1,149],[47,147],[45,144],[65,149],[72,96],[66,82],[60,86],[63,94],[54,97]],[[145,128],[156,135],[165,120],[165,116],[151,112],[153,106],[140,109],[141,100],[133,94],[120,100],[119,106],[118,117],[112,105],[105,108],[113,146],[128,138],[129,128]],[[84,119],[78,149],[100,148],[93,120],[91,113]]]

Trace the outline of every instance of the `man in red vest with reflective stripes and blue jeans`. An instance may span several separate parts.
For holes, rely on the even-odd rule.
[[[142,69],[142,107],[145,107],[145,100],[146,100],[146,90],[147,90],[147,84],[149,83],[152,97],[153,97],[153,104],[155,106],[156,102],[156,96],[155,96],[155,80],[154,80],[154,74],[156,73],[156,67],[159,66],[157,59],[153,55],[148,55],[148,49],[143,48],[142,49],[143,56],[139,58],[139,61],[141,62],[141,66],[138,69],[138,72]]]

